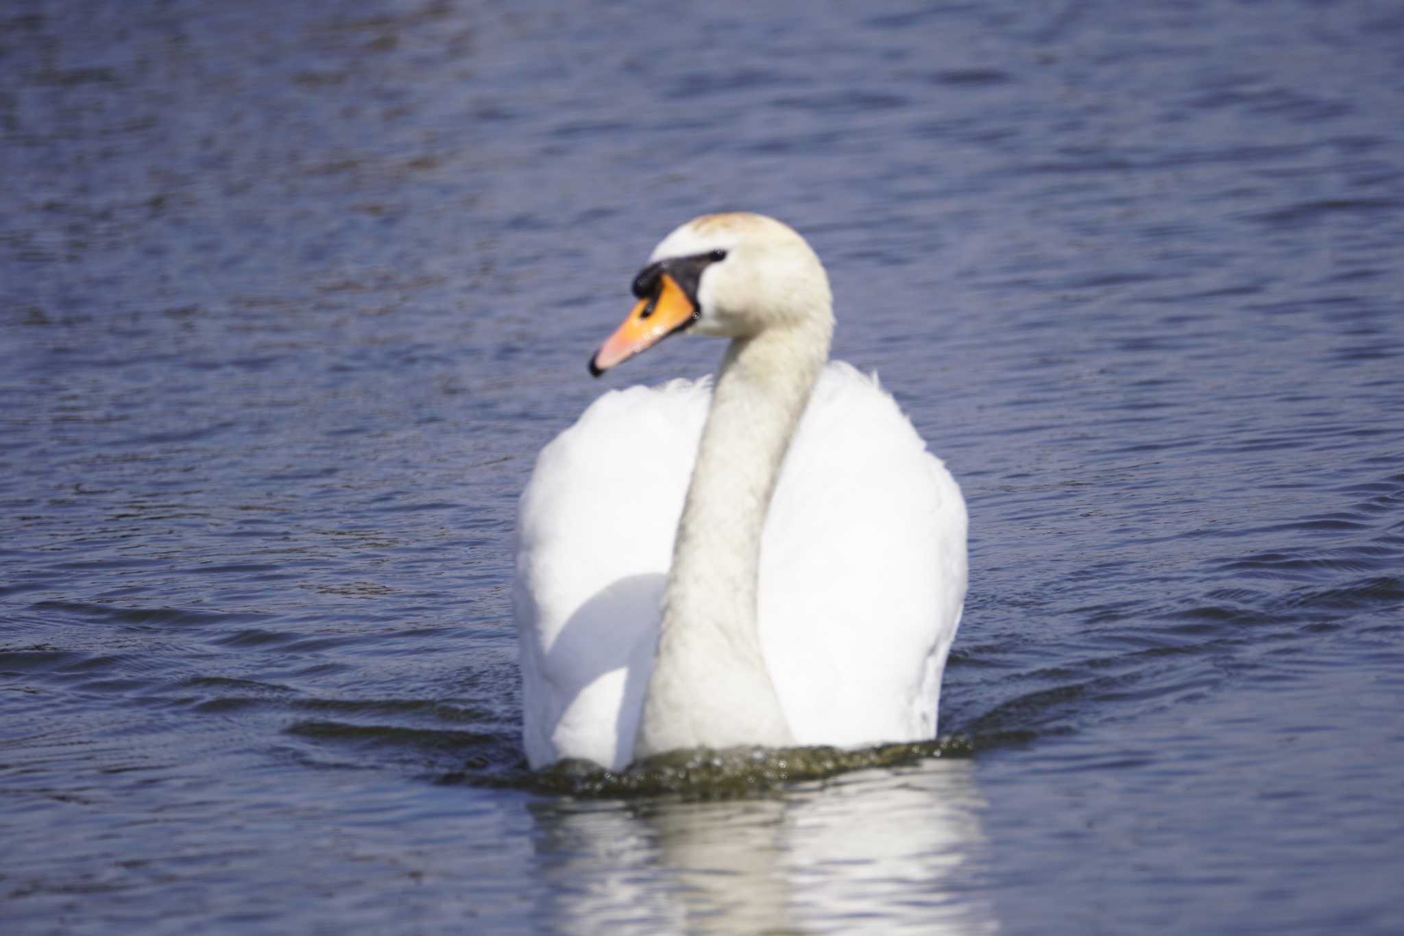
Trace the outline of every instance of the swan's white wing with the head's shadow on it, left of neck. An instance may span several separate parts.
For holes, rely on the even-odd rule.
[[[518,505],[512,591],[534,768],[633,758],[709,397],[706,380],[607,393],[538,456]]]

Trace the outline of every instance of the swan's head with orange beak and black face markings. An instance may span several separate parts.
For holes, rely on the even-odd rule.
[[[653,250],[633,281],[637,302],[600,347],[600,376],[671,334],[754,338],[771,330],[821,335],[834,328],[828,275],[810,246],[774,218],[702,215]]]

